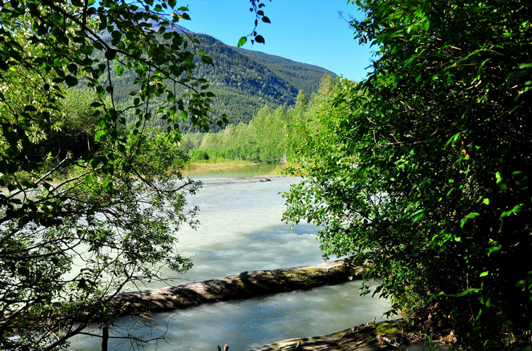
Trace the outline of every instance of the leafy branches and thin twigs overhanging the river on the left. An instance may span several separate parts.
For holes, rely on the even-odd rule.
[[[175,4],[0,4],[2,350],[65,347],[91,321],[112,324],[106,302],[126,284],[158,279],[161,264],[190,267],[174,231],[194,224],[184,194],[198,184],[166,171],[187,158],[175,150],[179,121],[211,124],[213,96],[193,75],[196,56],[211,59],[172,30],[189,18]],[[128,104],[112,72],[132,72]],[[153,111],[156,98],[170,104]],[[166,134],[149,139],[154,118]]]

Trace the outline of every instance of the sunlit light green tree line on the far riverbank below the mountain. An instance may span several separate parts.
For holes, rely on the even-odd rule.
[[[271,108],[266,104],[249,123],[228,124],[217,133],[184,135],[184,151],[189,152],[192,161],[297,161],[293,145],[302,141],[302,130],[316,127],[317,113],[333,91],[333,79],[325,75],[310,98],[299,91],[294,106]]]

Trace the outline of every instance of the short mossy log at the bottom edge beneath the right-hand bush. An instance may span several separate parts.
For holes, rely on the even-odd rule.
[[[413,327],[404,319],[370,322],[337,333],[314,338],[288,339],[268,344],[252,351],[377,351],[403,350],[411,345]]]

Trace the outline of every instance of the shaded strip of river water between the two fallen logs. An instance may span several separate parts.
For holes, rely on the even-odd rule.
[[[165,333],[159,351],[216,350],[228,343],[230,350],[250,350],[287,338],[323,335],[366,323],[389,309],[387,301],[358,291],[360,281],[323,286],[308,291],[260,296],[248,300],[211,303],[186,310],[155,313],[150,327]],[[133,317],[116,320],[116,334],[153,337],[153,330]],[[99,350],[93,340],[78,337],[76,350]],[[91,346],[93,345],[93,346]],[[127,340],[110,340],[109,350],[129,350]],[[72,349],[74,350],[74,349]],[[145,350],[156,350],[155,344]]]

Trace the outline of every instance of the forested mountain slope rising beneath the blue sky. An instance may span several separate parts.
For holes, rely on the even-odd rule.
[[[179,30],[197,38],[200,43],[198,48],[205,50],[213,59],[214,65],[207,65],[197,58],[194,61],[197,66],[195,74],[209,81],[209,89],[216,94],[212,104],[214,113],[226,113],[229,123],[250,121],[265,104],[272,108],[291,106],[295,104],[299,90],[310,96],[318,90],[324,74],[336,77],[322,67],[235,48],[210,35],[192,33],[184,27]],[[133,74],[128,72],[121,77],[113,77],[119,104],[126,104],[131,99],[128,93],[133,86],[133,78]],[[164,101],[153,101],[150,106],[159,108],[163,104]],[[187,130],[189,126],[184,123],[182,128]]]

